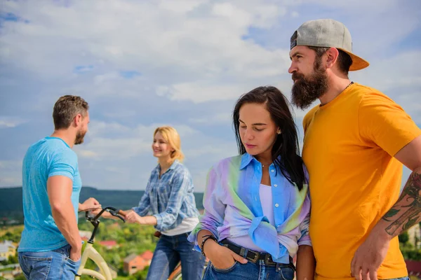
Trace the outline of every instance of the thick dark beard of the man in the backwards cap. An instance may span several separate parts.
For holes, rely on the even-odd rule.
[[[293,80],[296,80],[292,89],[292,104],[304,110],[307,109],[314,100],[321,97],[328,91],[328,75],[322,69],[319,62],[314,63],[314,73],[309,76],[294,72]]]

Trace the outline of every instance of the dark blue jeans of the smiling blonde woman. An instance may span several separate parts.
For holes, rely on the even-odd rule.
[[[187,240],[189,232],[182,235],[161,235],[154,251],[147,280],[166,280],[181,260],[182,280],[199,280],[203,272],[205,257],[193,251]]]

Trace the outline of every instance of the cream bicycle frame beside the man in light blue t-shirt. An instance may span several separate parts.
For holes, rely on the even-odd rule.
[[[93,262],[95,262],[95,264],[98,265],[98,267],[100,268],[100,272],[96,272],[95,270],[85,268],[86,261],[88,259],[93,260]],[[93,248],[93,244],[89,242],[88,244],[86,244],[85,250],[83,250],[81,266],[79,267],[77,274],[94,276],[95,278],[100,280],[112,280],[111,272],[109,271],[107,262],[105,262],[104,258],[102,258],[102,255],[100,255],[100,253],[98,253],[98,251],[96,251],[95,248]],[[79,280],[81,278],[80,276],[76,276],[74,279]]]

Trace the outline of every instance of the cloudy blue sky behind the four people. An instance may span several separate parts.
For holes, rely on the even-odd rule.
[[[351,80],[421,127],[419,0],[1,1],[0,187],[21,185],[27,148],[51,135],[53,105],[74,94],[90,105],[74,147],[83,186],[144,190],[154,129],[171,125],[203,191],[208,169],[238,154],[236,99],[260,85],[290,99],[290,36],[319,18],[343,22],[370,62]],[[294,108],[300,139],[306,112]]]

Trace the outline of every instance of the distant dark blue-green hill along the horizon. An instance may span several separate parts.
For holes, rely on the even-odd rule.
[[[95,197],[102,207],[112,206],[118,209],[130,209],[138,205],[143,190],[98,190],[83,187],[80,201]],[[194,193],[197,209],[203,209],[203,193]],[[0,218],[22,218],[22,187],[0,188]]]

